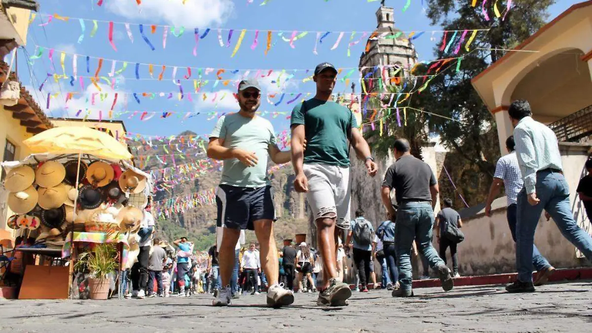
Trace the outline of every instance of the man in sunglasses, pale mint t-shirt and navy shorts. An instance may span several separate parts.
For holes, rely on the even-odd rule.
[[[261,246],[263,271],[269,280],[267,304],[278,307],[294,302],[291,290],[278,283],[278,250],[275,245],[274,200],[268,178],[268,156],[276,164],[290,161],[289,152],[279,151],[274,127],[255,114],[261,104],[259,85],[241,81],[236,95],[240,111],[220,117],[210,135],[208,157],[224,161],[216,191],[217,226],[224,228],[218,244],[222,289],[214,306],[230,304],[230,277],[235,264],[234,247],[240,230],[255,230]]]

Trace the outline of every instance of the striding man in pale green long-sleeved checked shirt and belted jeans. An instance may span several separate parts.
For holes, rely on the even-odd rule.
[[[592,260],[592,237],[582,230],[571,212],[570,189],[563,176],[561,154],[555,133],[532,119],[526,100],[514,101],[508,110],[514,126],[516,157],[524,188],[517,198],[516,268],[518,279],[506,287],[510,293],[534,292],[532,254],[536,225],[546,210],[561,233],[588,260]]]

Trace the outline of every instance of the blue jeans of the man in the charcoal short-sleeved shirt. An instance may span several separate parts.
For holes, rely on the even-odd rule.
[[[411,291],[411,246],[417,238],[418,251],[426,257],[432,268],[444,265],[432,246],[432,228],[434,211],[429,202],[410,202],[399,205],[397,223],[395,223],[395,246],[397,246],[397,266],[399,283],[403,292]]]

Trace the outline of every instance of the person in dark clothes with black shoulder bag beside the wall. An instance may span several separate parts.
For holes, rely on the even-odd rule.
[[[446,226],[452,225],[456,228],[462,228],[461,216],[452,209],[452,199],[444,199],[444,209],[440,210],[436,216],[436,238],[440,244],[440,258],[446,262],[446,249],[450,247],[450,254],[452,257],[452,271],[454,277],[460,277],[458,274],[458,256],[456,255],[456,245],[458,243],[451,241],[450,239],[443,236],[446,231]]]

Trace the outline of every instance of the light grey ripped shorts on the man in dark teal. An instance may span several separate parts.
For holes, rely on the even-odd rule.
[[[349,167],[328,164],[304,164],[308,178],[306,198],[315,219],[337,217],[338,225],[349,225]]]

